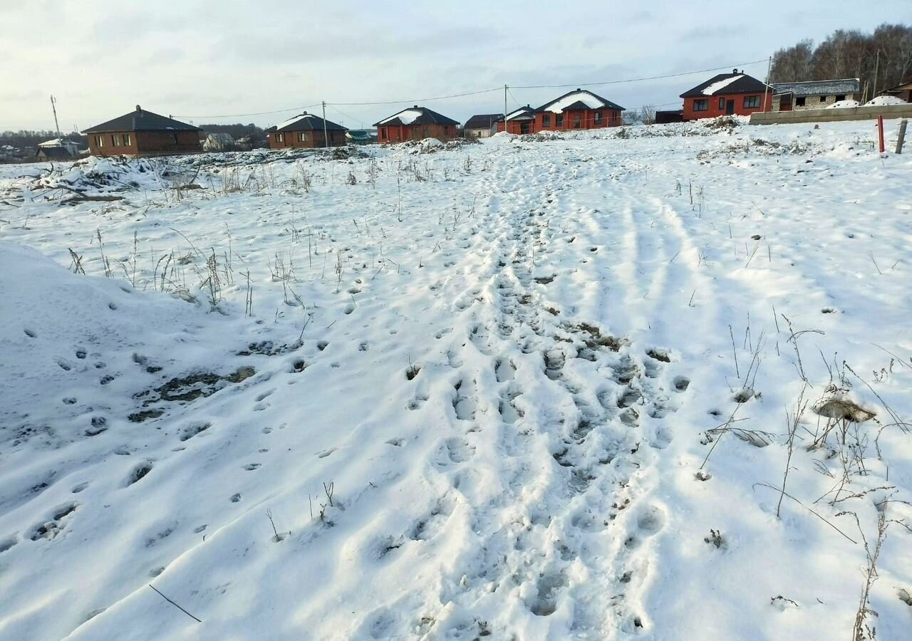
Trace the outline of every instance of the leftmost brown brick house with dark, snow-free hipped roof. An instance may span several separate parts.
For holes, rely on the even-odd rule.
[[[83,131],[93,156],[167,156],[198,153],[199,127],[136,109]]]

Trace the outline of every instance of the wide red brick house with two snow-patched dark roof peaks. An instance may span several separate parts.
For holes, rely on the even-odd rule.
[[[575,89],[546,102],[538,109],[530,105],[516,109],[497,123],[498,131],[538,133],[573,129],[619,127],[624,108],[587,89]]]

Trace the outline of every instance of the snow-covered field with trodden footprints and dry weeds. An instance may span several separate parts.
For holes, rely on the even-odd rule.
[[[910,638],[875,139],[0,166],[0,638]]]

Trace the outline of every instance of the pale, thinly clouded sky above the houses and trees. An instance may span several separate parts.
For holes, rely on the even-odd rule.
[[[54,129],[51,94],[67,130],[136,104],[194,124],[267,126],[322,100],[404,101],[326,108],[327,119],[355,128],[422,98],[501,88],[421,100],[464,121],[503,111],[504,84],[576,86],[736,65],[763,78],[779,47],[882,22],[912,23],[912,2],[0,0],[0,130]],[[592,89],[627,109],[671,109],[710,75]],[[515,88],[507,108],[566,90]]]

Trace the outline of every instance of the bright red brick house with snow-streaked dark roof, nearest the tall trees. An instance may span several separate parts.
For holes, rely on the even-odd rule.
[[[730,74],[713,76],[682,93],[683,118],[696,120],[731,115],[750,116],[755,111],[769,111],[772,94],[769,85],[738,69],[732,69]]]

